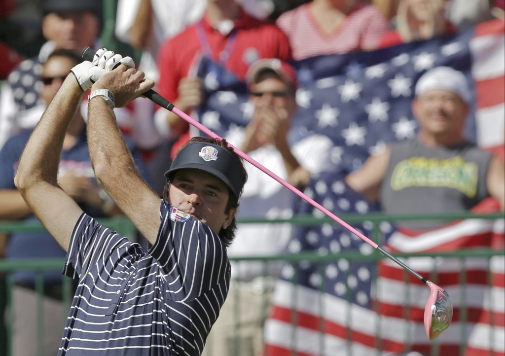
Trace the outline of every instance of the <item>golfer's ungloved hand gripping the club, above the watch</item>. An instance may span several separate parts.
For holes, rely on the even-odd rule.
[[[153,80],[144,78],[144,72],[121,64],[100,77],[91,87],[91,91],[109,89],[114,94],[115,107],[122,108],[154,86]]]

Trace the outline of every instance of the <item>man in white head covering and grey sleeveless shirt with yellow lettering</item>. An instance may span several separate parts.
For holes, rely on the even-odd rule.
[[[465,76],[448,67],[426,72],[416,84],[412,112],[417,138],[391,143],[346,177],[349,186],[387,213],[469,210],[491,195],[505,206],[503,163],[467,142],[470,91]],[[414,224],[411,224],[414,227]],[[424,226],[426,227],[426,226]]]

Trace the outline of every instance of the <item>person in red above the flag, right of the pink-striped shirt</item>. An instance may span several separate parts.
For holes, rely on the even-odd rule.
[[[396,31],[380,40],[381,48],[455,32],[445,19],[445,0],[400,0],[396,14]]]

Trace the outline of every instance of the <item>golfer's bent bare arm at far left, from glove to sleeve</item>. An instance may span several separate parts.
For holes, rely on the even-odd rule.
[[[26,143],[14,177],[33,214],[65,250],[82,210],[58,185],[58,165],[68,124],[82,94],[70,74]]]

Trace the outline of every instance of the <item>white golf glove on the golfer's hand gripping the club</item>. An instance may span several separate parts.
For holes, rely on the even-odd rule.
[[[84,61],[70,71],[74,74],[79,82],[79,86],[83,91],[88,90],[94,82],[102,75],[110,72],[119,64],[124,64],[130,68],[135,67],[135,63],[131,57],[123,58],[121,55],[115,55],[112,50],[100,48],[97,50],[93,63]]]

